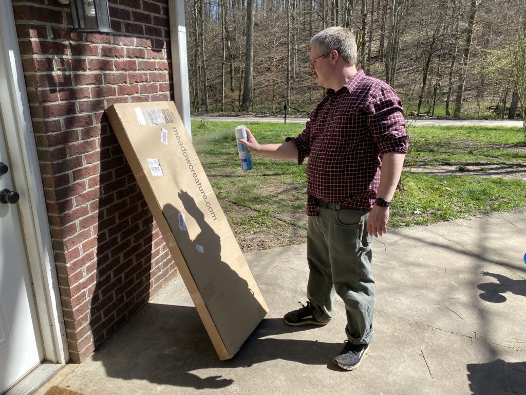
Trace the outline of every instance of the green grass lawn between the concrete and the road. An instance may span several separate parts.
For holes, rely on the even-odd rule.
[[[254,169],[239,169],[235,123],[193,121],[194,146],[233,227],[250,233],[272,232],[283,223],[306,228],[305,165],[253,155]],[[260,143],[296,136],[302,124],[247,123]],[[403,191],[393,199],[390,228],[431,224],[510,211],[526,206],[526,184],[483,177],[489,164],[526,164],[521,128],[409,126],[411,165],[452,164],[456,170],[477,165],[480,176],[404,173]],[[242,212],[242,214],[240,214]],[[278,220],[278,221],[277,221]]]

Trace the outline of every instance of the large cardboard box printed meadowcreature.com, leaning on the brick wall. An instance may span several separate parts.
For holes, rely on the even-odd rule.
[[[175,104],[106,113],[219,358],[232,358],[268,308]]]

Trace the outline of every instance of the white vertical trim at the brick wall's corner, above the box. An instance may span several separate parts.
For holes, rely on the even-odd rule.
[[[170,18],[171,67],[174,81],[174,101],[190,139],[190,91],[188,88],[188,58],[184,0],[168,0]]]

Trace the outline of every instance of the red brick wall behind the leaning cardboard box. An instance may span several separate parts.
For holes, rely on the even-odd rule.
[[[104,109],[172,99],[163,0],[110,0],[115,33],[68,5],[13,1],[65,317],[85,359],[177,274]]]

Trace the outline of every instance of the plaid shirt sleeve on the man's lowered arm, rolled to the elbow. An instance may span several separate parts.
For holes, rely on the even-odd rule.
[[[369,130],[378,144],[380,154],[407,153],[409,135],[406,133],[402,103],[395,91],[385,86],[371,90],[367,112]]]

